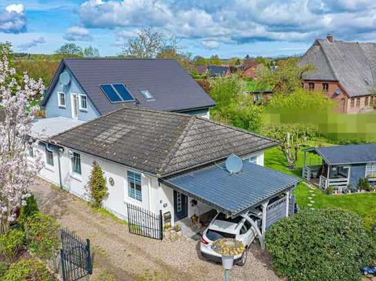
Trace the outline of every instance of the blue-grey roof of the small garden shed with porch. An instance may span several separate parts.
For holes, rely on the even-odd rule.
[[[376,162],[376,144],[325,146],[308,148],[305,151],[316,152],[330,165]]]

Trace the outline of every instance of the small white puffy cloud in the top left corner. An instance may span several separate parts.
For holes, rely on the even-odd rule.
[[[10,4],[6,6],[5,12],[0,13],[0,32],[26,32],[26,15],[24,14],[24,5]]]

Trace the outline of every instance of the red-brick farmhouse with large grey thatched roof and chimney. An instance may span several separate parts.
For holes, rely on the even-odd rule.
[[[373,110],[376,43],[334,41],[328,35],[316,39],[305,52],[300,65],[307,64],[314,64],[316,70],[303,75],[304,88],[327,93],[343,113]]]

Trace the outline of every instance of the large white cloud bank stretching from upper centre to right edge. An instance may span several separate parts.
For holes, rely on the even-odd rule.
[[[179,39],[200,39],[206,48],[218,48],[220,43],[312,41],[328,32],[354,40],[355,35],[360,38],[364,32],[376,32],[376,3],[373,0],[88,0],[80,6],[80,18],[87,28],[123,28],[132,33],[141,26],[154,26]]]

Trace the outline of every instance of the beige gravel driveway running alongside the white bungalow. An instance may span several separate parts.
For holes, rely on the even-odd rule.
[[[42,211],[91,240],[94,256],[91,280],[224,279],[222,265],[202,260],[195,240],[167,242],[133,235],[125,224],[93,211],[86,202],[41,179],[32,191]],[[240,280],[280,280],[258,244],[253,244],[244,267],[235,266],[231,270],[231,281]]]

